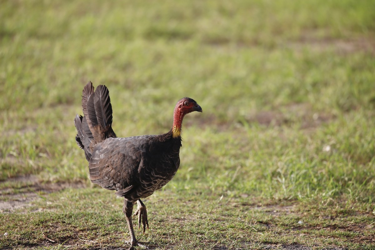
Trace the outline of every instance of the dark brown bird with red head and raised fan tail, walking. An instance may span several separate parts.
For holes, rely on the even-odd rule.
[[[163,187],[180,166],[181,125],[190,112],[202,112],[195,100],[184,97],[173,112],[173,126],[162,135],[142,135],[117,138],[112,129],[112,106],[108,88],[99,85],[95,92],[92,82],[82,93],[83,114],[74,119],[75,137],[89,162],[90,180],[115,195],[124,197],[123,213],[130,232],[130,248],[142,246],[134,235],[133,205],[137,209],[138,226],[148,228],[146,207],[141,198],[148,197]],[[147,248],[147,247],[146,247]]]

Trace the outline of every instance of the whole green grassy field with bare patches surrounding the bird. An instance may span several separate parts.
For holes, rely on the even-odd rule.
[[[122,201],[90,184],[74,141],[91,80],[119,136],[166,132],[183,96],[203,109],[185,118],[177,175],[145,199],[140,241],[374,249],[374,8],[3,1],[0,248],[126,247]]]

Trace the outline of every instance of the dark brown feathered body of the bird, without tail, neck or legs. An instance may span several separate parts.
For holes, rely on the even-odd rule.
[[[177,172],[180,146],[168,133],[108,138],[94,147],[90,180],[130,201],[148,197]]]

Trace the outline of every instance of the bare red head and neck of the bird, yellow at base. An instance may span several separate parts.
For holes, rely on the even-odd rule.
[[[202,112],[201,106],[195,100],[184,97],[177,102],[173,112],[172,132],[174,138],[181,136],[182,120],[186,114],[193,111]]]

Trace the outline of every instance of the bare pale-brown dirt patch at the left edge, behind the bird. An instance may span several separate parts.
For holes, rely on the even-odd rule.
[[[12,213],[15,210],[30,207],[33,201],[42,199],[43,195],[58,192],[66,188],[82,188],[83,183],[40,183],[34,175],[9,178],[0,182],[0,213]],[[8,186],[13,188],[8,188]],[[17,186],[17,187],[15,187]],[[33,212],[39,211],[34,210]]]

